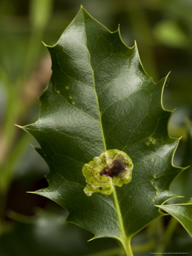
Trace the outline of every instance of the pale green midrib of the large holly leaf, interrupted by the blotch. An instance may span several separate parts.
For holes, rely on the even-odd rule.
[[[84,23],[84,34],[85,34],[86,51],[87,51],[87,54],[89,56],[89,65],[90,65],[90,69],[91,69],[92,77],[93,77],[94,93],[95,93],[95,98],[96,98],[96,101],[97,101],[97,109],[98,109],[98,115],[99,115],[99,125],[100,125],[100,129],[101,129],[103,149],[104,149],[104,152],[106,152],[107,151],[107,146],[106,146],[106,142],[105,142],[105,136],[104,136],[104,133],[103,133],[103,125],[102,125],[101,111],[100,111],[100,108],[99,108],[98,96],[97,96],[97,92],[96,92],[96,89],[95,89],[94,70],[91,67],[91,57],[90,57],[89,49],[87,48],[87,37],[86,37],[86,30],[85,30],[84,10],[82,10],[82,14],[83,14],[83,18],[84,18],[84,22],[83,23]],[[122,213],[120,211],[119,200],[118,200],[118,197],[116,195],[115,186],[113,187],[112,195],[113,195],[113,198],[114,198],[114,205],[115,205],[115,209],[116,209],[116,214],[118,216],[119,229],[120,229],[120,233],[122,235],[121,236],[122,240],[120,240],[120,239],[119,240],[120,240],[120,242],[122,242],[123,247],[126,250],[126,247],[127,247],[126,243],[128,241],[128,237],[126,236],[126,232],[124,230]]]

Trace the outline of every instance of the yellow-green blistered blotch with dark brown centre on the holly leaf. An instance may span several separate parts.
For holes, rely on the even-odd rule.
[[[84,192],[91,196],[94,192],[111,195],[114,185],[122,187],[132,179],[133,163],[126,154],[120,150],[107,150],[93,161],[84,164],[82,173],[86,179]]]

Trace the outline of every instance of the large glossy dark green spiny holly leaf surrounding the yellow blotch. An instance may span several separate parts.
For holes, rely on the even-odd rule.
[[[182,171],[172,164],[179,139],[169,137],[171,112],[162,107],[166,77],[155,84],[136,45],[127,47],[119,28],[108,31],[82,7],[47,48],[52,77],[39,119],[23,127],[50,168],[49,187],[35,193],[68,209],[68,221],[94,238],[116,238],[131,255],[131,237],[162,215],[155,205],[174,196],[169,186]],[[82,167],[106,150],[132,159],[132,180],[111,195],[88,197]]]

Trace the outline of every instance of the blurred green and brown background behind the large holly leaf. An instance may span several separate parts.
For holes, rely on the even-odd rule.
[[[192,164],[192,1],[189,0],[1,0],[0,2],[0,256],[124,255],[118,242],[100,239],[65,222],[67,212],[43,197],[26,193],[47,187],[48,172],[30,143],[34,139],[14,123],[35,122],[37,97],[51,76],[51,59],[41,43],[52,45],[80,5],[124,42],[139,48],[154,81],[170,79],[163,94],[173,137],[183,136],[174,164]],[[172,184],[172,191],[192,195],[191,168]],[[192,254],[191,239],[169,216],[153,221],[132,241],[134,255],[155,251]]]

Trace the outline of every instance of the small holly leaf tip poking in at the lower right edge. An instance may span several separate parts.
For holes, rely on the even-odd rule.
[[[192,237],[192,204],[167,204],[158,207],[176,218]]]

